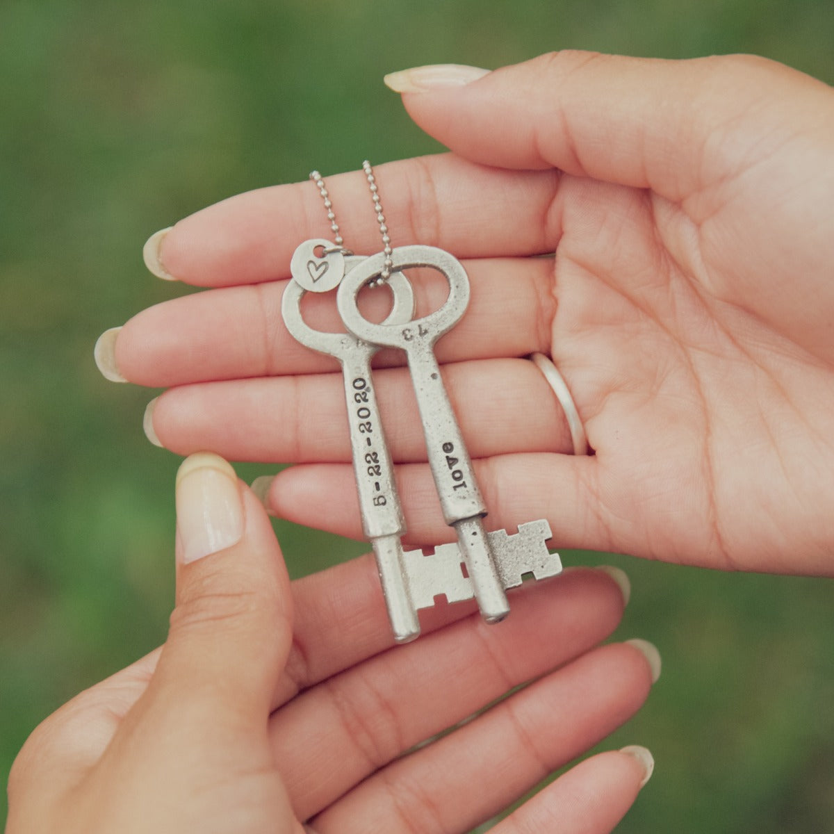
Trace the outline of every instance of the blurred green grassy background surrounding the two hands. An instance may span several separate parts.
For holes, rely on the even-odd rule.
[[[165,634],[178,460],[142,432],[157,392],[108,384],[92,359],[103,329],[183,292],[143,269],[148,234],[313,167],[434,151],[383,87],[390,70],[569,47],[747,51],[831,83],[832,44],[831,0],[2,0],[3,781],[38,721]],[[279,533],[294,575],[364,550]],[[665,661],[641,716],[605,742],[657,761],[618,831],[834,831],[831,582],[563,559],[625,567],[618,636]]]

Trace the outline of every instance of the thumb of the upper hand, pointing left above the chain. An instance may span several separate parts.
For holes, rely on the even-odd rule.
[[[675,201],[736,173],[734,160],[746,151],[748,160],[770,152],[762,141],[774,133],[765,93],[783,107],[828,89],[749,56],[664,61],[565,51],[462,85],[432,84],[419,69],[396,75],[395,87],[421,90],[404,94],[414,121],[467,159],[501,168],[552,166],[652,188]],[[791,123],[789,114],[781,118]],[[732,158],[719,141],[728,136]]]

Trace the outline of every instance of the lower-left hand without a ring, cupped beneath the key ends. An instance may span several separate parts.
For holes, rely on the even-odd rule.
[[[659,671],[642,641],[593,648],[624,604],[601,570],[531,588],[499,626],[432,611],[434,633],[391,648],[372,561],[291,588],[224,460],[185,461],[177,509],[168,641],[34,731],[7,834],[466,831],[619,726]],[[649,773],[644,748],[593,756],[495,831],[611,831]]]

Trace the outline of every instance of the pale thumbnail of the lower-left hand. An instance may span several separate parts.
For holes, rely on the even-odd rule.
[[[180,465],[177,530],[183,565],[236,545],[244,535],[238,478],[219,455],[198,452]]]

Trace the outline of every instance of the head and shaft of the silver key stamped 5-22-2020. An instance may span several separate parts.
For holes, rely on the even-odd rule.
[[[344,260],[344,269],[349,270],[364,259],[348,256]],[[306,269],[306,262],[303,267]],[[411,284],[404,274],[395,273],[388,285],[394,295],[394,305],[385,320],[391,324],[404,324],[414,314]],[[309,327],[300,309],[305,293],[299,282],[292,280],[287,284],[281,302],[284,323],[301,344],[333,356],[342,365],[362,529],[374,549],[394,638],[398,642],[414,640],[420,635],[420,622],[409,595],[399,541],[405,524],[370,373],[370,359],[379,350],[379,345],[369,344],[351,334],[323,333]]]

